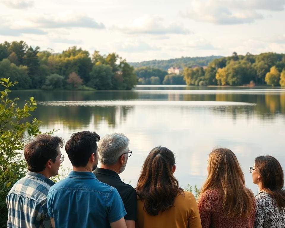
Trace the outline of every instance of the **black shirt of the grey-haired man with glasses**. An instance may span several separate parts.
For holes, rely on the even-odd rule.
[[[96,178],[106,183],[107,185],[113,186],[118,190],[127,214],[125,215],[125,220],[137,220],[137,192],[136,190],[129,184],[121,181],[118,173],[113,170],[96,168],[93,171]]]

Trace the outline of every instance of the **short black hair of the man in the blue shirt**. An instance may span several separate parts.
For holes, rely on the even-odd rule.
[[[75,167],[85,167],[91,154],[96,154],[96,142],[99,140],[100,136],[96,132],[73,133],[65,144],[65,151],[71,164]]]

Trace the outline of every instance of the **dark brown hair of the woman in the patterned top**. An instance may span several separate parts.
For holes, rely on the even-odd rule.
[[[279,207],[285,207],[284,173],[278,160],[272,156],[259,156],[254,168],[259,174],[262,188],[270,194]]]

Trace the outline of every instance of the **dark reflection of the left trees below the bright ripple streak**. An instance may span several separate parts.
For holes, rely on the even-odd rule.
[[[116,115],[119,121],[125,121],[133,107],[85,107],[85,106],[42,106],[35,110],[35,116],[43,125],[63,124],[70,130],[88,127],[94,124],[97,128],[102,121],[111,127],[116,126]]]

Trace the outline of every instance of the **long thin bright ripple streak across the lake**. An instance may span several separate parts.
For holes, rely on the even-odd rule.
[[[114,100],[114,101],[47,101],[38,102],[45,106],[254,106],[254,103],[231,101],[140,101],[140,100]]]

